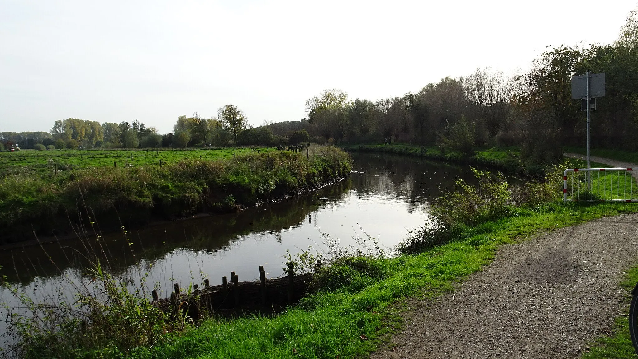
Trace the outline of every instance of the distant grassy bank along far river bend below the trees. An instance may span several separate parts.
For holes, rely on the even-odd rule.
[[[527,165],[520,159],[520,152],[517,147],[494,147],[491,149],[477,150],[474,156],[468,158],[463,153],[454,150],[442,151],[436,146],[415,146],[406,143],[395,145],[341,145],[348,151],[362,152],[385,152],[391,154],[403,154],[417,156],[420,158],[436,159],[438,161],[449,161],[454,163],[470,163],[471,165],[487,166],[508,173],[523,173],[535,175],[540,173],[544,167],[537,165]]]

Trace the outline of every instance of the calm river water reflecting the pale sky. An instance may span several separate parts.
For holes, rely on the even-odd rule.
[[[258,279],[260,265],[267,277],[279,277],[284,275],[286,251],[299,253],[309,246],[327,249],[322,233],[346,247],[357,245],[356,238],[364,238],[365,231],[378,239],[382,249],[392,251],[409,230],[427,221],[441,189],[452,188],[459,177],[473,182],[469,166],[387,154],[352,157],[350,179],[314,193],[237,214],[106,235],[103,243],[109,254],[105,260],[122,273],[140,260],[142,271],[149,272],[147,282],[159,284],[160,297],[168,296],[172,283],[188,286],[191,281],[200,283],[202,276],[210,278],[211,284],[220,284],[221,277],[231,271],[240,281]],[[82,252],[80,240],[65,240],[43,248],[0,251],[0,263],[8,281],[27,293],[46,295],[55,293],[61,275],[82,277],[87,266],[78,254]],[[131,275],[131,282],[137,282],[137,277]],[[0,292],[0,302],[12,302],[6,289]],[[4,315],[0,311],[0,317]]]

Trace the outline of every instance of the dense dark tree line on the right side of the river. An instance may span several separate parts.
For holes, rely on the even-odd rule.
[[[612,45],[551,48],[518,76],[477,69],[376,101],[324,90],[306,101],[309,132],[336,142],[392,140],[468,154],[477,146],[519,145],[531,161],[553,163],[563,146],[584,147],[586,121],[571,98],[571,77],[588,70],[606,74],[607,91],[592,115],[592,146],[638,150],[637,11]]]

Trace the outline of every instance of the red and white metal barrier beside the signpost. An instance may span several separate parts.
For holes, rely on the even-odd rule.
[[[563,203],[638,202],[638,198],[634,198],[634,185],[637,185],[638,197],[638,181],[634,181],[632,172],[627,176],[628,171],[638,171],[638,168],[568,168],[563,172]],[[572,172],[571,181],[568,180],[569,172]],[[568,195],[571,198],[568,199]]]

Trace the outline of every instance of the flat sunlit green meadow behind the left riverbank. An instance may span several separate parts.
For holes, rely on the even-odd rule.
[[[15,173],[38,173],[50,175],[54,164],[58,171],[80,170],[100,166],[159,166],[162,163],[175,163],[182,159],[218,160],[241,156],[259,150],[267,152],[277,149],[249,149],[247,147],[227,149],[197,150],[22,150],[20,152],[0,152],[0,178]]]

